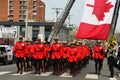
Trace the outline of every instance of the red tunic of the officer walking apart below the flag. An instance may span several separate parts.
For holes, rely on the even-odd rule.
[[[98,59],[98,58],[104,59],[104,53],[105,53],[104,46],[101,46],[101,45],[94,46],[94,49],[93,49],[94,59]]]

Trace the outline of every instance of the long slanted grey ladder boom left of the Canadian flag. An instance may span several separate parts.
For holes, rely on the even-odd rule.
[[[67,16],[70,13],[70,10],[76,0],[68,0],[66,7],[62,11],[59,19],[56,21],[55,25],[53,26],[53,30],[51,31],[49,37],[48,37],[48,42],[52,42],[53,37],[57,36],[60,29],[62,28],[63,23],[65,22]]]

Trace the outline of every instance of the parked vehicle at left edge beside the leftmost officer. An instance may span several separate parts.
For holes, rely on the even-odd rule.
[[[8,64],[14,62],[12,47],[9,45],[0,45],[0,63]]]

